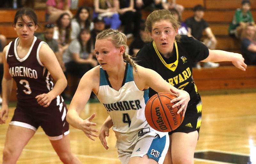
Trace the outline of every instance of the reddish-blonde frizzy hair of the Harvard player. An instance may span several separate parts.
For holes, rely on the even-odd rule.
[[[169,10],[156,10],[148,15],[145,23],[145,31],[151,33],[153,24],[161,20],[170,21],[174,29],[178,29],[180,27],[180,23],[175,19],[172,12],[170,12]],[[180,40],[179,34],[175,36],[175,40]]]

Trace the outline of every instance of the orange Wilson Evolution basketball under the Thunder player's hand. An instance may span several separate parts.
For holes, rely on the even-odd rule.
[[[148,124],[155,130],[169,132],[177,129],[182,123],[183,111],[177,114],[180,106],[172,108],[175,103],[170,101],[177,96],[168,92],[160,92],[152,96],[145,107],[145,117]]]

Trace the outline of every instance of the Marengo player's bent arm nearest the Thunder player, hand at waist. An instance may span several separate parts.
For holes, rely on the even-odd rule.
[[[50,105],[51,101],[60,95],[61,92],[66,88],[67,79],[54,52],[48,45],[44,43],[39,50],[39,59],[50,72],[53,80],[55,81],[55,86],[51,91],[36,96],[38,104],[47,107]]]

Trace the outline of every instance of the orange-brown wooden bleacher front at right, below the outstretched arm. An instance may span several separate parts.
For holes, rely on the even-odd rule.
[[[248,66],[242,71],[235,66],[202,68],[193,70],[193,78],[198,90],[255,88],[256,66]]]

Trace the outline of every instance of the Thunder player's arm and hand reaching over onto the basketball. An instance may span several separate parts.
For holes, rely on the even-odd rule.
[[[179,90],[166,82],[156,71],[144,68],[142,66],[138,66],[138,71],[136,76],[138,79],[141,79],[142,83],[138,83],[142,89],[147,89],[148,87],[152,88],[156,92],[172,92],[176,94],[178,97],[171,100],[171,103],[177,102],[172,105],[172,108],[181,105],[180,110],[177,112],[178,114],[183,110],[183,116],[185,115],[186,108],[188,106],[188,101],[190,100],[188,92],[185,90]],[[137,81],[137,80],[136,80]],[[139,81],[139,80],[138,80]],[[137,83],[136,83],[137,84]]]

